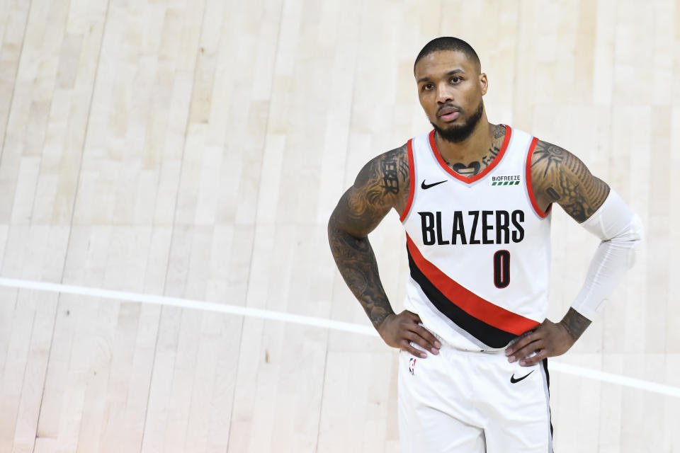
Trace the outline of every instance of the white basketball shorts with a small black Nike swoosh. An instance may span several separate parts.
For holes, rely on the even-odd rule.
[[[399,352],[403,453],[552,453],[548,360],[443,344],[424,359]]]

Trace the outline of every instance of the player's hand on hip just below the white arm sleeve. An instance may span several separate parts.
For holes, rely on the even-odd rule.
[[[528,331],[515,343],[509,345],[505,350],[505,355],[511,363],[519,360],[519,365],[530,367],[545,357],[564,354],[575,341],[562,323],[553,323],[546,319],[533,331]],[[527,357],[532,352],[536,352],[536,355]]]

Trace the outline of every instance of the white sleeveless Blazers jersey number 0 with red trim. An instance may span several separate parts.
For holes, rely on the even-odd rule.
[[[537,141],[506,126],[499,154],[471,177],[448,167],[434,131],[408,142],[404,305],[455,348],[502,349],[545,319],[550,208],[531,190]]]

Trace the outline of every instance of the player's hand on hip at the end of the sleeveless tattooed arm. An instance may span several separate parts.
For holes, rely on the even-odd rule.
[[[433,354],[439,353],[441,343],[426,328],[419,325],[421,322],[420,316],[412,311],[404,310],[399,314],[387,316],[378,326],[378,333],[382,340],[385,340],[385,343],[392,348],[403,349],[424,359],[427,354],[414,348],[411,342]]]

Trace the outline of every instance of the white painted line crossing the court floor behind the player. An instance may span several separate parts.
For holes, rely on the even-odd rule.
[[[363,335],[378,337],[378,332],[376,332],[375,329],[370,326],[361,326],[360,324],[346,323],[342,321],[332,321],[330,319],[315,318],[313,316],[289,314],[282,311],[253,309],[247,306],[217,304],[215,302],[205,302],[194,299],[180,299],[179,297],[166,297],[157,296],[154,294],[141,294],[137,292],[113,291],[111,289],[99,289],[74,285],[60,285],[59,283],[17,280],[4,277],[0,277],[0,286],[21,289],[35,289],[37,291],[60,292],[64,294],[78,294],[81,296],[103,297],[105,299],[141,302],[142,304],[157,304],[177,306],[185,309],[215,311],[217,313],[237,314],[260,319],[273,319],[275,321],[285,321],[289,323],[303,324],[305,326],[332,328],[336,331],[361,333]],[[567,365],[565,363],[555,362],[554,360],[550,360],[550,371],[574,374],[576,376],[586,377],[588,379],[596,379],[602,382],[610,382],[611,384],[633,387],[634,389],[642,389],[658,394],[680,398],[680,388],[678,387],[657,384],[656,382],[635,379],[633,377],[625,377],[621,374],[601,372],[596,369]]]

